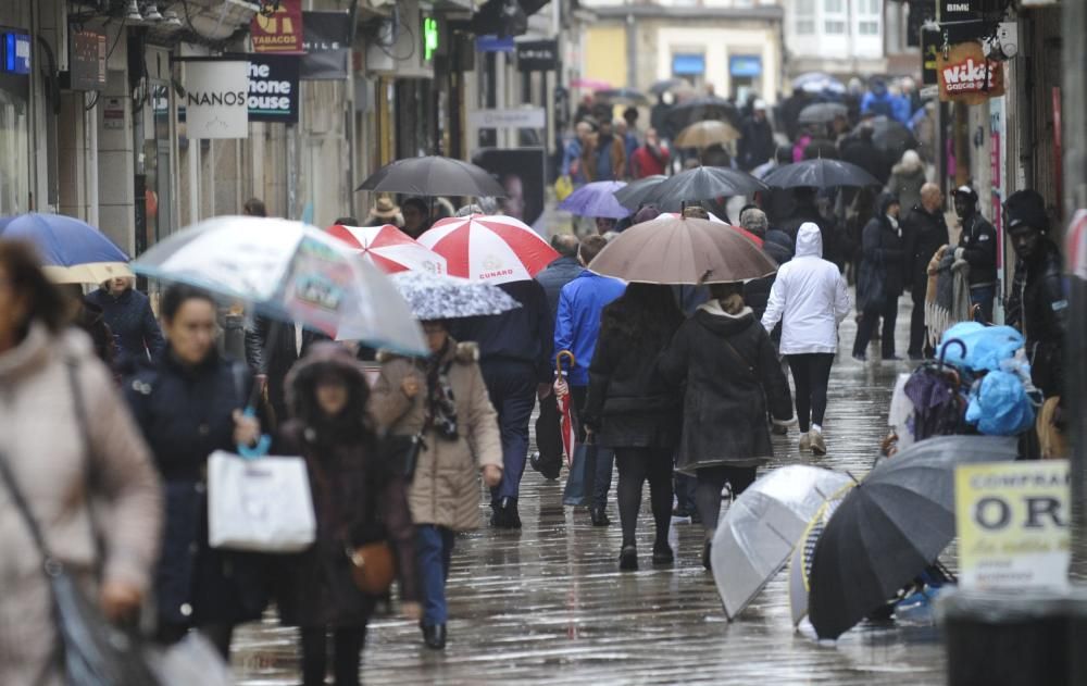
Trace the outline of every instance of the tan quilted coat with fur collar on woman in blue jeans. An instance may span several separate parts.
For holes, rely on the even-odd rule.
[[[475,344],[451,346],[447,353],[446,362],[452,362],[449,384],[457,403],[459,436],[447,440],[433,429],[425,436],[426,448],[418,456],[408,490],[415,524],[437,524],[454,532],[482,524],[478,472],[488,464],[502,467],[502,444],[477,357]],[[382,372],[371,396],[371,414],[395,435],[414,435],[425,417],[426,372],[422,362],[384,353],[378,360]],[[421,390],[410,399],[401,386],[413,374]]]

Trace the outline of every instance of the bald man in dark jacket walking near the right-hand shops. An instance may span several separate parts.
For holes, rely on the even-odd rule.
[[[925,297],[928,291],[928,262],[948,245],[948,225],[944,219],[944,196],[936,184],[921,187],[921,204],[902,220],[905,238],[907,283],[913,297],[910,315],[910,359],[932,357],[925,349]]]

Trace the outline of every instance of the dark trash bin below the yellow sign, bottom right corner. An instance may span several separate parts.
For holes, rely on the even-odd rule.
[[[1082,686],[1071,681],[1070,596],[1040,590],[948,590],[937,604],[948,686]],[[1087,610],[1079,620],[1087,624]]]

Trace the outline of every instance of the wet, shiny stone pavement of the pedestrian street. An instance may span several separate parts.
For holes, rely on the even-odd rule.
[[[908,326],[903,299],[897,337],[903,356]],[[777,459],[767,469],[810,462],[858,477],[871,469],[887,431],[895,375],[911,367],[908,362],[853,361],[854,330],[850,319],[832,373],[828,454],[801,458],[792,429],[788,437],[774,437]],[[526,472],[520,533],[484,528],[458,539],[445,652],[426,650],[411,622],[378,619],[371,624],[363,656],[366,683],[944,682],[945,658],[935,629],[862,625],[836,643],[816,641],[807,623],[794,631],[784,572],[737,621],[727,622],[713,579],[700,563],[699,525],[674,520],[676,565],[649,564],[648,491],[638,534],[641,570],[620,573],[614,502],[609,507],[612,525],[594,528],[587,512],[562,507],[564,479],[565,473],[549,483]],[[239,683],[298,683],[292,629],[268,619],[240,629],[236,648]]]

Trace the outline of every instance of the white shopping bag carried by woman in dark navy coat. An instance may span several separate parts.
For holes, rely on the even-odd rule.
[[[313,544],[310,479],[302,458],[208,458],[208,539],[212,548],[298,552]]]

